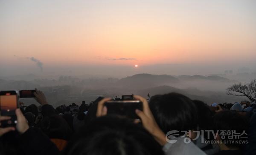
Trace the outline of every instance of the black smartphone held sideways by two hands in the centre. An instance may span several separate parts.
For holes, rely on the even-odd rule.
[[[143,105],[140,100],[110,100],[105,102],[108,114],[123,115],[131,119],[138,119],[136,109],[142,110]]]

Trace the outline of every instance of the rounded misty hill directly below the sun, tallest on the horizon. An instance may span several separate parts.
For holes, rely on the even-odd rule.
[[[151,74],[136,74],[120,79],[117,83],[120,86],[134,86],[134,87],[151,87],[165,85],[168,83],[176,83],[179,79],[171,75],[151,75]]]

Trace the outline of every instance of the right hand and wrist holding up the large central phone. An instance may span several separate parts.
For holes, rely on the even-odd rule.
[[[157,125],[157,122],[155,121],[154,116],[148,106],[148,101],[138,95],[134,95],[134,98],[140,100],[143,103],[143,111],[136,109],[136,114],[140,117],[144,128],[154,136],[160,145],[163,146],[166,144],[166,135]]]

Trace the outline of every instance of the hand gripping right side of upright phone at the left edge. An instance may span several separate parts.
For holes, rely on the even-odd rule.
[[[26,121],[25,116],[22,114],[22,112],[20,111],[20,109],[16,109],[15,110],[16,116],[17,116],[17,125],[16,125],[16,129],[18,132],[20,132],[21,134],[23,134],[24,132],[26,132],[26,130],[29,129],[29,124]]]

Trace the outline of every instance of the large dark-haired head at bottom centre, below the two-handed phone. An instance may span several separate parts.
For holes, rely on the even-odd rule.
[[[87,123],[74,135],[64,155],[163,155],[162,147],[139,124],[116,116]]]

